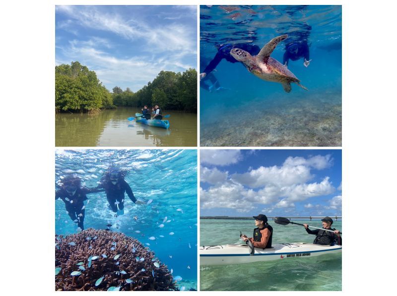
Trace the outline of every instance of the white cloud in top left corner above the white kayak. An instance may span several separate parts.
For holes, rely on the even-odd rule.
[[[243,158],[240,150],[203,149],[200,151],[201,164],[228,165],[239,162]]]

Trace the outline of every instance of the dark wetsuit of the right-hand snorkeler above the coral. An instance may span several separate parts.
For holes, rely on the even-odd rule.
[[[119,209],[124,209],[124,193],[127,193],[128,197],[135,203],[136,198],[133,196],[132,189],[130,185],[126,182],[126,180],[119,178],[116,185],[110,181],[109,178],[105,178],[104,181],[97,187],[103,188],[106,192],[106,198],[108,199],[109,206],[113,212],[117,213],[117,204],[116,201],[119,202]]]

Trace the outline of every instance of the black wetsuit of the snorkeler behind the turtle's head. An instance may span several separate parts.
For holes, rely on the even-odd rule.
[[[259,46],[250,43],[222,45],[214,58],[209,62],[208,66],[205,67],[203,72],[208,75],[213,69],[216,68],[216,66],[223,58],[231,63],[239,63],[239,61],[230,54],[230,50],[232,50],[233,48],[243,49],[245,51],[248,51],[251,55],[257,55],[261,51]]]

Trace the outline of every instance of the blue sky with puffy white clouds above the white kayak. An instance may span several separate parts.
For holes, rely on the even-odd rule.
[[[341,150],[200,151],[200,216],[340,216]]]

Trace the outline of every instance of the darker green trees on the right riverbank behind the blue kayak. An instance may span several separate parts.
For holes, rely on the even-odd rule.
[[[113,89],[113,102],[117,106],[142,107],[158,104],[163,110],[197,112],[197,71],[188,69],[183,73],[161,71],[136,93],[129,88],[122,93]]]

